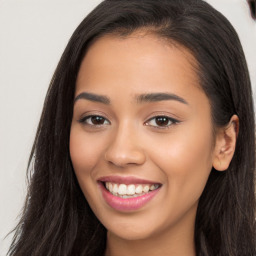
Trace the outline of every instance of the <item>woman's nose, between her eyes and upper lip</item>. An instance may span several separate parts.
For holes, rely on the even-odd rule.
[[[128,125],[119,126],[110,138],[105,160],[117,167],[126,167],[131,164],[142,165],[146,156],[138,137],[136,129]]]

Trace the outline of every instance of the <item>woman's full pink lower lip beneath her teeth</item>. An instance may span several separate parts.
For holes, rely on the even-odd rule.
[[[131,197],[131,198],[121,198],[118,196],[112,195],[103,185],[102,182],[99,182],[99,187],[102,192],[102,196],[109,206],[117,211],[135,211],[148,203],[153,197],[158,193],[159,189],[150,191],[142,196]]]

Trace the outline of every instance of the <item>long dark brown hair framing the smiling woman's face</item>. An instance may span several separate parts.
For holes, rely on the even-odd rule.
[[[8,255],[104,255],[106,229],[81,192],[69,154],[76,78],[93,41],[139,29],[194,55],[213,127],[227,125],[233,114],[240,120],[228,170],[212,169],[199,200],[197,256],[256,255],[255,121],[248,68],[231,24],[201,0],[105,0],[81,22],[46,95],[28,165],[26,203]]]

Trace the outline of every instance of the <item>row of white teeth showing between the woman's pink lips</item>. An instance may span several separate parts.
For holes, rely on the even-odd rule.
[[[155,190],[159,188],[158,184],[116,184],[111,182],[106,182],[105,187],[108,191],[116,196],[121,196],[122,198],[130,198],[142,195],[144,193],[148,193],[149,191]]]

